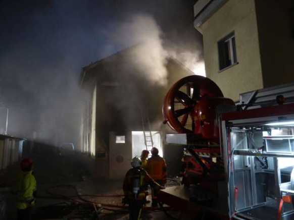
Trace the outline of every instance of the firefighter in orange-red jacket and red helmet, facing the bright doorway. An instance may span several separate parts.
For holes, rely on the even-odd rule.
[[[151,149],[152,156],[148,159],[147,171],[149,175],[161,186],[166,184],[167,169],[164,158],[158,155],[158,149]],[[152,189],[152,207],[158,206],[157,195],[159,190]]]

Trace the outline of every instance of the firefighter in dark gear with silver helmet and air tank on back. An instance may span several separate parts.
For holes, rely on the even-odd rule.
[[[148,173],[141,168],[141,159],[135,156],[132,161],[132,169],[130,169],[124,179],[123,190],[125,197],[123,203],[129,205],[129,219],[140,220],[143,204],[146,200],[145,188],[149,184],[157,190],[164,189],[156,183]]]

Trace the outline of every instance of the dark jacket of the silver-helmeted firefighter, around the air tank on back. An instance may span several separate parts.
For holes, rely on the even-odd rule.
[[[140,174],[140,190],[138,192],[137,197],[133,194],[132,185],[133,185],[133,177],[137,175],[137,171],[139,170]],[[132,168],[130,169],[125,176],[123,183],[124,195],[129,200],[143,200],[146,197],[145,189],[147,185],[150,185],[153,188],[160,189],[160,185],[156,183],[148,173],[141,168]]]

